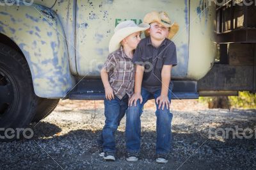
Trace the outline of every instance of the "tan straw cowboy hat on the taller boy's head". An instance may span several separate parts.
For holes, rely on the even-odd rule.
[[[151,24],[152,22],[158,22],[165,27],[170,27],[168,34],[168,39],[172,39],[173,36],[179,31],[179,24],[176,22],[171,22],[166,12],[150,12],[147,13],[143,19],[143,22]],[[149,36],[147,31],[145,31],[145,36]]]

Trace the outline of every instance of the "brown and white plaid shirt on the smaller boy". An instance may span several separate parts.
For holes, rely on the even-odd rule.
[[[119,99],[125,94],[131,97],[134,89],[135,65],[132,59],[125,55],[124,49],[120,49],[109,54],[104,68],[108,72],[109,84]]]

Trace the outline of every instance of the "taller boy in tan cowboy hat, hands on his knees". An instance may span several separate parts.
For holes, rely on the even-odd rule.
[[[156,162],[168,162],[172,134],[170,101],[173,83],[172,66],[177,65],[176,47],[170,40],[179,30],[179,25],[170,22],[166,12],[150,12],[143,22],[150,24],[147,36],[138,44],[132,61],[136,64],[134,94],[129,98],[126,112],[126,148],[129,162],[138,160],[140,151],[140,116],[143,105],[151,97],[156,102]]]

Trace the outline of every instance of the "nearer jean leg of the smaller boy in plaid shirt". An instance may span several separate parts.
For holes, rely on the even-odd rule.
[[[112,100],[104,100],[105,125],[102,130],[103,150],[115,153],[115,132],[120,117],[120,100],[115,97]]]

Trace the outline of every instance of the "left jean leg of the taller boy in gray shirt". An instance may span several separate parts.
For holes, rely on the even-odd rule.
[[[143,102],[140,104],[140,100],[137,100],[136,106],[134,104],[129,106],[126,112],[125,138],[127,152],[138,152],[140,150],[140,116],[142,114],[143,105],[150,97],[150,93],[145,89],[141,89],[141,95]]]

